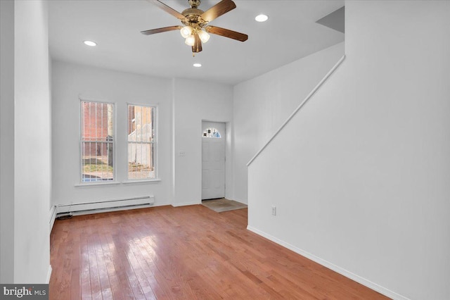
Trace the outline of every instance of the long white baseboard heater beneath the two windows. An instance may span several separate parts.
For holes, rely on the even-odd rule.
[[[106,201],[95,201],[89,203],[63,204],[58,206],[58,215],[60,214],[84,214],[94,213],[95,211],[118,211],[121,209],[136,208],[138,206],[149,206],[155,204],[155,197],[141,196],[127,199],[113,199]]]

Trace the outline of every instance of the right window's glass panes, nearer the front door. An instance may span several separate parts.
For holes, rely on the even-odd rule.
[[[153,106],[128,106],[128,179],[156,178],[155,124]]]

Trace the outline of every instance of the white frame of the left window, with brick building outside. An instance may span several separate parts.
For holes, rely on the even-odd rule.
[[[113,144],[113,180],[98,180],[98,181],[84,181],[83,180],[83,145],[84,142],[96,142],[96,141],[85,141],[83,139],[83,119],[84,119],[84,113],[83,113],[83,102],[95,102],[99,104],[110,104],[113,106],[113,141],[111,141],[111,144]],[[99,100],[99,99],[89,99],[80,97],[79,98],[79,185],[110,185],[110,184],[117,184],[117,167],[116,167],[116,129],[117,129],[117,105],[114,102],[105,101],[105,100]],[[98,141],[98,142],[104,142],[104,141]]]

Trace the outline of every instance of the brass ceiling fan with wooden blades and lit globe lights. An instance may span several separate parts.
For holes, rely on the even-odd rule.
[[[230,39],[236,39],[240,42],[245,42],[248,39],[248,35],[245,35],[240,32],[236,32],[233,30],[207,25],[215,18],[223,15],[224,13],[228,13],[232,9],[236,8],[236,4],[234,4],[231,0],[222,0],[218,4],[212,6],[212,8],[207,11],[202,11],[198,9],[200,5],[200,0],[188,0],[191,8],[185,9],[183,12],[179,13],[175,11],[174,8],[163,4],[159,0],[148,0],[151,3],[155,4],[159,8],[162,8],[163,11],[170,13],[175,18],[181,20],[184,26],[175,25],[169,27],[162,27],[150,30],[141,31],[143,35],[153,35],[155,33],[172,31],[172,30],[180,30],[181,36],[184,37],[185,44],[192,47],[192,53],[198,53],[202,51],[202,42],[206,43],[208,39],[210,39],[210,35],[208,33],[212,33],[214,35],[221,35],[222,37],[229,37]]]

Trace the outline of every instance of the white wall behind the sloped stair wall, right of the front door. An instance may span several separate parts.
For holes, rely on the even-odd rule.
[[[233,199],[247,203],[248,161],[343,54],[336,44],[234,87]]]

